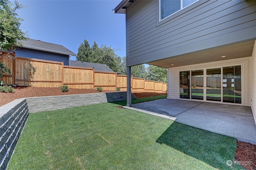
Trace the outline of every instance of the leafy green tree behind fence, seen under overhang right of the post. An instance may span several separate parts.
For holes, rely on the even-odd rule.
[[[148,80],[167,83],[167,68],[149,65],[147,72]]]

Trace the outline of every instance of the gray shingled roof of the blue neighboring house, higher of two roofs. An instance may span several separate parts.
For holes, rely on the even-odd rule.
[[[76,54],[68,48],[59,45],[59,44],[53,44],[50,42],[44,42],[40,40],[33,40],[33,39],[28,39],[26,41],[20,41],[22,43],[22,48],[29,48],[29,49],[34,49],[34,50],[41,50],[41,51],[46,51],[46,52],[53,52],[57,54],[65,54],[65,55],[71,55],[71,56],[76,56]]]

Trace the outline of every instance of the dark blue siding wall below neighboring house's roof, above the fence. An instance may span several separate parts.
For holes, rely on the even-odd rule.
[[[16,56],[26,57],[26,58],[36,58],[41,60],[57,61],[57,62],[64,61],[64,65],[66,66],[69,65],[69,56],[64,54],[57,54],[52,52],[21,48],[21,49],[16,49]]]

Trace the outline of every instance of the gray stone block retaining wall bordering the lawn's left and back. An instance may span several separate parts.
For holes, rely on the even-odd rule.
[[[132,99],[136,98],[132,94]],[[126,100],[126,92],[76,94],[16,99],[0,107],[0,170],[7,168],[28,114]]]

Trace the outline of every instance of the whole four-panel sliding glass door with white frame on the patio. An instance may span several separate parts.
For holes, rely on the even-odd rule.
[[[180,98],[241,104],[241,78],[239,65],[180,71]]]

